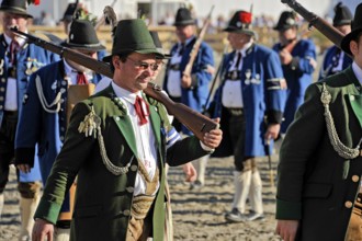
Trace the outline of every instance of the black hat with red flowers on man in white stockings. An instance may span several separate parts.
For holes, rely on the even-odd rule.
[[[252,31],[252,14],[247,11],[237,11],[230,19],[225,32],[230,33],[245,33],[248,35],[256,35],[256,32]]]

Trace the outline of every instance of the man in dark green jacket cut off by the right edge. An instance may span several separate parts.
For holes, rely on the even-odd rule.
[[[346,70],[312,84],[280,152],[276,233],[285,241],[361,240],[362,4],[342,42]]]

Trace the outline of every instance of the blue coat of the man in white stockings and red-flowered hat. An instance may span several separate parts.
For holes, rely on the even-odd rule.
[[[225,80],[227,70],[233,64],[236,51],[226,55],[222,66],[222,78]],[[285,80],[279,56],[271,49],[252,45],[246,51],[242,59],[242,69],[238,73],[241,81],[241,95],[244,102],[244,113],[246,120],[246,157],[265,156],[264,134],[268,124],[281,123],[285,107]],[[226,112],[222,104],[223,88],[225,81],[215,92],[211,108],[213,117],[222,117],[220,128],[227,128],[228,125]],[[267,118],[267,123],[264,122]],[[265,125],[267,124],[267,125]],[[226,133],[225,130],[224,133]],[[228,149],[231,147],[228,139],[223,137],[219,148]],[[217,149],[219,149],[217,148]],[[216,151],[218,151],[216,149]],[[230,156],[233,151],[219,150],[222,156]]]

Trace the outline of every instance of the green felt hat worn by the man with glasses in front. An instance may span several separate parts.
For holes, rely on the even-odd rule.
[[[139,54],[159,55],[154,39],[144,20],[121,20],[114,32],[112,55],[105,56],[103,61],[111,61],[112,56],[136,51]]]

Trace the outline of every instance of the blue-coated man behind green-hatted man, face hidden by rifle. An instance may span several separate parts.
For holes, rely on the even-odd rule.
[[[104,49],[92,23],[87,20],[72,21],[68,41],[64,46],[93,58],[97,58],[98,50]],[[71,111],[71,106],[67,104],[71,101],[69,88],[75,84],[94,88],[92,84],[98,83],[100,78],[93,71],[68,59],[53,62],[31,77],[15,139],[15,163],[20,170],[29,170],[34,165],[35,146],[38,145],[41,173],[46,183],[65,140],[67,119]],[[90,88],[90,93],[93,88]],[[73,190],[70,190],[56,225],[58,239],[69,239],[72,198]]]

